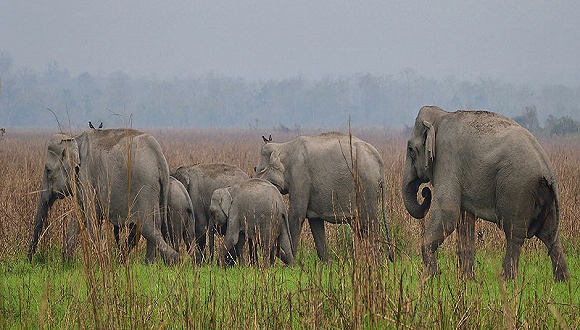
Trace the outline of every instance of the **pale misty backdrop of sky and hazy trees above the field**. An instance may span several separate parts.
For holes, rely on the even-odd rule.
[[[579,119],[580,3],[0,4],[0,126],[402,127],[421,105]]]

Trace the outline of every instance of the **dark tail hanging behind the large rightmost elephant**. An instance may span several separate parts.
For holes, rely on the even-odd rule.
[[[538,233],[546,224],[547,228],[557,228],[560,222],[560,198],[556,181],[542,177],[538,188],[536,205],[539,206],[539,214],[528,227],[528,238]]]

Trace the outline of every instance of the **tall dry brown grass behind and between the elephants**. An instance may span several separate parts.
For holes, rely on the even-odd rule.
[[[150,130],[161,143],[170,168],[179,165],[226,162],[251,174],[259,159],[261,135],[271,132],[213,130]],[[307,132],[306,132],[307,133]],[[316,133],[316,132],[312,132]],[[421,221],[411,218],[401,197],[401,173],[405,161],[406,138],[395,131],[354,130],[353,133],[373,144],[385,162],[387,182],[386,211],[394,243],[401,251],[419,251]],[[37,191],[43,175],[48,131],[14,131],[0,142],[0,249],[2,258],[22,255],[30,240]],[[274,141],[287,141],[296,133],[274,133]],[[566,250],[574,249],[580,239],[580,139],[553,138],[540,141],[559,179],[561,234]],[[62,247],[71,199],[59,200],[51,209],[49,226],[39,247]],[[330,247],[336,244],[338,226],[327,225]],[[495,225],[478,221],[477,249],[503,250],[502,233]],[[303,231],[303,245],[312,245],[308,230]],[[451,242],[451,243],[449,243]],[[526,245],[544,249],[538,240]],[[447,240],[443,248],[454,244]],[[313,247],[313,245],[312,245]]]

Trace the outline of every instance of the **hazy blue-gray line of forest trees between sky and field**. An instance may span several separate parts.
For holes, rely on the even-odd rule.
[[[317,80],[301,76],[250,81],[201,77],[133,77],[125,72],[71,74],[55,61],[44,72],[14,67],[0,52],[0,127],[277,128],[280,130],[412,126],[423,105],[448,111],[485,109],[549,135],[578,132],[580,86],[515,85],[360,73]]]

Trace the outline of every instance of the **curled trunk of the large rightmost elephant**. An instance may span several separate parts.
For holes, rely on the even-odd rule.
[[[421,191],[424,198],[423,203],[420,204],[417,200],[417,192],[421,183],[421,179],[413,171],[413,166],[407,163],[403,172],[403,201],[407,212],[416,219],[423,219],[431,206],[431,189],[427,187]]]

